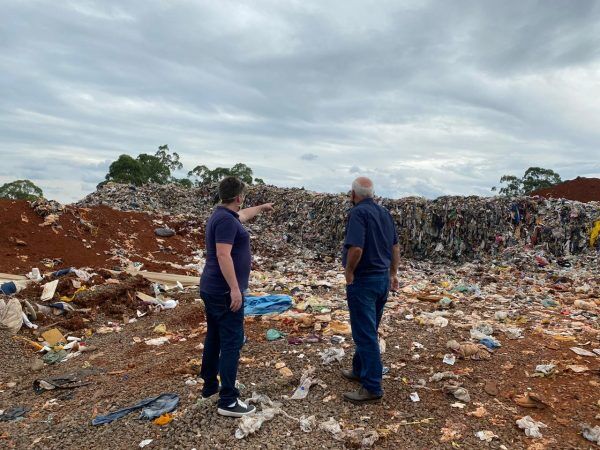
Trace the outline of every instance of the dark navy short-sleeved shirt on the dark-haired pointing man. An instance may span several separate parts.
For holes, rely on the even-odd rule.
[[[250,234],[240,222],[240,216],[224,206],[218,206],[206,223],[206,265],[200,278],[200,290],[207,294],[230,292],[217,259],[217,244],[231,244],[231,259],[240,290],[248,289],[252,256]]]

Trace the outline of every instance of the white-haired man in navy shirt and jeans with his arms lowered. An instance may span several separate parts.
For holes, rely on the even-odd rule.
[[[398,288],[400,247],[391,214],[373,200],[371,180],[354,180],[351,200],[342,263],[356,350],[352,369],[342,370],[342,375],[361,383],[357,391],[344,394],[344,399],[360,404],[383,396],[377,330],[389,289]]]

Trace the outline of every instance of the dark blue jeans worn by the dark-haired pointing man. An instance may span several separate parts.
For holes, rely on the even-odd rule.
[[[204,380],[202,395],[208,397],[221,391],[219,407],[234,403],[240,395],[235,387],[240,349],[244,343],[244,307],[231,311],[229,293],[212,295],[200,292],[206,312],[206,337],[200,376]]]

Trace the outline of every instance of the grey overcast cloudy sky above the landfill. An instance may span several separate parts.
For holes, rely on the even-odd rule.
[[[122,153],[268,183],[489,195],[600,176],[600,2],[3,0],[0,183],[77,200]]]

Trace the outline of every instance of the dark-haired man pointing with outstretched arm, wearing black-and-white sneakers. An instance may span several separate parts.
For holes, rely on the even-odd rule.
[[[267,203],[240,210],[244,191],[244,183],[235,177],[219,184],[221,205],[206,223],[206,266],[200,279],[207,325],[200,369],[202,396],[219,392],[217,412],[228,417],[242,417],[256,410],[238,399],[240,393],[235,387],[244,342],[243,292],[248,288],[252,262],[250,235],[242,223],[273,209]]]

